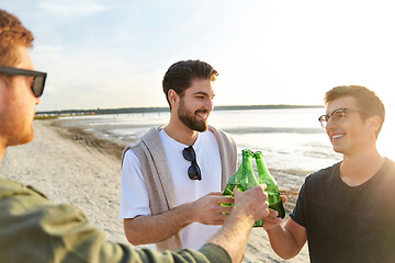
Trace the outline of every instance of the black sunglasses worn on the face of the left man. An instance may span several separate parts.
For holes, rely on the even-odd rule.
[[[0,67],[0,73],[8,75],[8,76],[27,76],[34,77],[32,83],[32,91],[35,98],[40,98],[44,92],[45,79],[46,73],[27,70],[27,69],[19,69],[19,68],[10,68],[10,67]]]

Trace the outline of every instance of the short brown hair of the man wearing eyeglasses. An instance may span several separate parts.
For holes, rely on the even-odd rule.
[[[325,94],[325,104],[327,105],[341,96],[353,96],[357,100],[360,111],[370,115],[377,115],[381,118],[381,124],[376,132],[376,136],[379,136],[385,119],[385,107],[380,98],[363,85],[339,85],[332,88]],[[369,115],[362,114],[362,119],[366,119],[368,116]]]

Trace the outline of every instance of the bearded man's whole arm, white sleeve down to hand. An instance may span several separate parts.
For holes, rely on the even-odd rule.
[[[134,244],[162,241],[193,221],[204,225],[222,225],[232,206],[233,198],[221,193],[210,193],[194,202],[184,203],[172,209],[149,215],[149,199],[137,157],[126,151],[122,168],[121,217],[127,240]]]

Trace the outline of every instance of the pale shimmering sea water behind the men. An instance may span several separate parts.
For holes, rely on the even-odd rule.
[[[319,125],[325,107],[215,111],[208,123],[236,140],[241,150],[261,150],[280,188],[298,190],[304,178],[341,160]],[[129,144],[153,126],[166,124],[168,112],[93,115],[63,118],[105,138]],[[395,160],[395,106],[386,107],[386,119],[379,136],[379,151]]]

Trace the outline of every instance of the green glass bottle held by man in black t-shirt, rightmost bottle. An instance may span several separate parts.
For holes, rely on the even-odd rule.
[[[264,163],[263,155],[261,151],[257,151],[255,153],[256,162],[257,162],[257,170],[258,170],[258,182],[266,183],[267,188],[266,192],[268,194],[268,203],[269,208],[274,209],[279,213],[278,217],[284,218],[285,210],[284,206],[281,201],[279,186],[275,182],[275,179],[269,173],[268,167]]]

